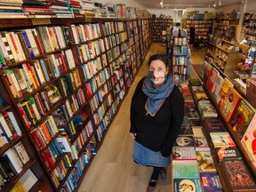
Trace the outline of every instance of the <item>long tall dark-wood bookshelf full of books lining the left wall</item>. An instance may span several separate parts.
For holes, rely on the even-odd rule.
[[[0,76],[40,159],[28,167],[42,164],[44,177],[36,177],[49,178],[48,191],[76,191],[146,57],[148,20],[4,22],[1,35],[12,35],[16,55]]]

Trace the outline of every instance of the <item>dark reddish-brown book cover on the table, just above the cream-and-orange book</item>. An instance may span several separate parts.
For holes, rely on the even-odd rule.
[[[206,132],[224,132],[225,127],[218,117],[204,118],[204,131]]]

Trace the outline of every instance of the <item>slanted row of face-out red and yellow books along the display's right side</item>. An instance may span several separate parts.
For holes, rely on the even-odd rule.
[[[245,100],[234,88],[228,78],[223,78],[216,68],[205,64],[204,82],[212,94],[213,100],[220,108],[220,113],[231,127],[236,138],[241,140],[245,150],[256,167],[255,155],[252,152],[253,132],[255,132],[256,109]],[[248,92],[249,93],[249,92]],[[253,92],[251,97],[253,98]],[[254,94],[255,97],[255,94]]]

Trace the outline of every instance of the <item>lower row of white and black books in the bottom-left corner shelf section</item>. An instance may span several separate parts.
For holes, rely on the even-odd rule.
[[[20,141],[5,151],[0,159],[0,183],[3,186],[22,171],[22,167],[28,163],[30,157]]]

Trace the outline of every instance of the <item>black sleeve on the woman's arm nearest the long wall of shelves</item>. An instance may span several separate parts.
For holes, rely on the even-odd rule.
[[[132,132],[132,133],[137,132],[136,125],[135,125],[136,112],[135,112],[134,108],[132,108],[132,103],[134,101],[134,98],[139,94],[139,92],[141,92],[142,84],[143,84],[144,79],[145,79],[145,77],[140,79],[140,82],[137,84],[135,92],[132,95],[132,102],[131,102],[131,107],[130,107],[130,122],[131,122],[130,132]]]

